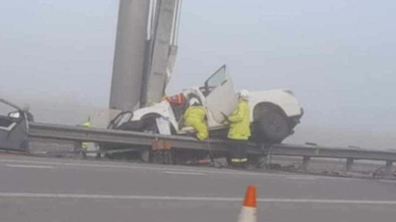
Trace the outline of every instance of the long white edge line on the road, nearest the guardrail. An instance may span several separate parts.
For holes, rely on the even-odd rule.
[[[186,169],[186,168],[171,168],[171,167],[151,167],[151,166],[131,166],[131,165],[112,165],[112,164],[80,164],[80,163],[65,163],[65,162],[46,162],[46,161],[31,161],[31,160],[10,160],[0,159],[0,162],[14,162],[14,163],[26,163],[26,164],[44,164],[44,165],[57,165],[57,166],[77,166],[77,167],[108,167],[108,168],[122,168],[122,169],[149,169],[158,171],[185,171],[195,173],[209,173],[209,174],[225,174],[225,175],[240,175],[240,176],[260,176],[260,177],[290,177],[290,174],[276,174],[276,173],[260,173],[260,172],[248,172],[248,171],[237,171],[231,169]],[[305,178],[306,175],[292,175],[297,178]],[[333,179],[333,180],[361,180],[357,178],[343,178],[343,177],[326,177],[320,175],[309,175],[308,177],[316,177],[318,179]]]

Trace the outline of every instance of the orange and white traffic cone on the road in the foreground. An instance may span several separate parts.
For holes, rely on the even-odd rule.
[[[248,186],[238,222],[257,222],[256,187]]]

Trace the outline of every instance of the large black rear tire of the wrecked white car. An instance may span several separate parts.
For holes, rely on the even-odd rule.
[[[253,129],[255,138],[280,143],[291,134],[287,117],[281,109],[272,105],[263,105],[259,109]]]

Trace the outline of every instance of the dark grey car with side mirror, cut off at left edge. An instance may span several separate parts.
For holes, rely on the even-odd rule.
[[[0,149],[27,151],[27,115],[18,106],[0,98]]]

